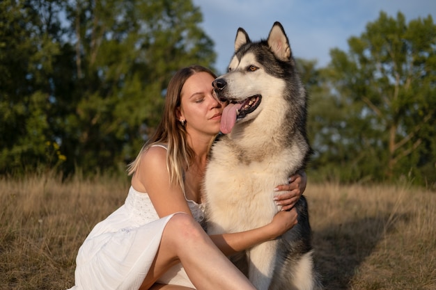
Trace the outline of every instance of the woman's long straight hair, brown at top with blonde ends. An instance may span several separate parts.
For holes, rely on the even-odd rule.
[[[134,174],[139,168],[141,157],[146,150],[152,145],[166,143],[166,170],[169,172],[170,182],[176,181],[185,191],[183,176],[185,170],[189,168],[194,160],[194,150],[187,143],[187,131],[176,118],[176,111],[180,108],[183,85],[189,79],[189,76],[198,72],[207,72],[214,78],[217,76],[208,68],[201,65],[192,65],[184,67],[171,78],[165,95],[165,106],[162,120],[160,121],[155,134],[143,145],[137,158],[129,164],[127,172],[129,175]],[[211,140],[212,142],[212,140]]]

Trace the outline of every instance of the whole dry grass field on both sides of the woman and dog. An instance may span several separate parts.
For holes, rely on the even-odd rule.
[[[95,223],[127,180],[0,177],[0,289],[67,289]],[[436,289],[436,193],[407,186],[309,184],[316,261],[326,289]]]

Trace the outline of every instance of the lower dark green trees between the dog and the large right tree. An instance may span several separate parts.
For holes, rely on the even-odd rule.
[[[353,171],[354,166],[350,163],[350,160],[357,157],[357,151],[355,148],[348,148],[350,140],[355,138],[357,132],[345,126],[350,104],[341,96],[332,93],[328,74],[324,68],[317,67],[316,61],[298,59],[297,64],[309,95],[307,130],[313,148],[308,169],[311,180],[323,182],[326,179],[359,179],[355,175],[360,173]],[[348,140],[345,140],[345,136]]]

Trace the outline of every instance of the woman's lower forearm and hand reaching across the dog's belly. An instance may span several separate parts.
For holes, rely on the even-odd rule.
[[[290,211],[280,211],[274,216],[271,223],[263,227],[246,232],[211,235],[210,239],[212,239],[224,255],[228,256],[242,250],[247,250],[259,243],[275,239],[296,224],[297,210],[291,209]]]

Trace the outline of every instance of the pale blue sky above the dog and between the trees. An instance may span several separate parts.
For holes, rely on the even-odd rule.
[[[297,58],[329,63],[329,50],[348,51],[347,40],[365,31],[383,10],[395,17],[401,11],[409,22],[432,15],[436,22],[436,0],[194,0],[201,8],[201,26],[215,42],[218,72],[225,72],[233,54],[236,31],[242,27],[251,40],[267,38],[279,21]]]

